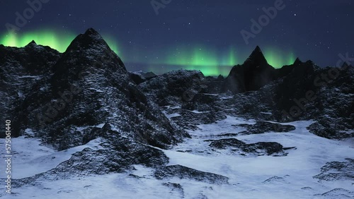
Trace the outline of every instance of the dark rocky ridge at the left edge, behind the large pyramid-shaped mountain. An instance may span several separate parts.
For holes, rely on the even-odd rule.
[[[23,48],[0,45],[0,119],[13,119],[32,86],[50,76],[60,53],[30,42]],[[17,126],[17,125],[16,125]],[[16,127],[15,126],[15,127]],[[12,135],[19,135],[13,131]],[[4,136],[4,133],[0,137]]]

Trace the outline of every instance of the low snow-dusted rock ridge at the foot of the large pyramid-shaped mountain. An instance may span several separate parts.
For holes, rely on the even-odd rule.
[[[86,147],[80,152],[75,152],[70,159],[54,169],[28,178],[14,179],[13,188],[38,186],[41,181],[123,172],[131,169],[132,164],[157,169],[169,162],[169,158],[161,150],[132,142],[118,135],[109,136],[113,139],[102,138],[100,148]]]

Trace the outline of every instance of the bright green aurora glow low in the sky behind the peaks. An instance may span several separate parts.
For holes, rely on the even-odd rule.
[[[65,52],[75,37],[76,34],[73,32],[58,32],[47,29],[25,32],[23,34],[0,35],[0,44],[10,47],[24,47],[32,40],[35,40],[37,44],[52,47],[59,52]],[[103,35],[102,37],[108,43],[110,49],[122,58],[121,47],[115,38],[110,35]],[[135,52],[135,54],[136,53],[138,52]],[[263,53],[268,64],[275,68],[293,64],[295,61],[295,55],[292,52],[287,54],[286,57],[281,57],[279,55],[284,54],[284,52],[273,47],[265,47]],[[172,69],[184,68],[200,70],[205,76],[218,76],[219,74],[227,76],[232,66],[242,64],[243,62],[241,62],[241,60],[244,60],[239,58],[240,55],[236,52],[235,47],[229,47],[229,49],[217,52],[215,48],[207,47],[202,44],[196,44],[193,47],[181,45],[177,48],[166,49],[162,54],[167,54],[167,56],[160,57],[156,60],[147,60],[147,63],[144,63],[149,65],[149,71],[159,73],[164,70],[171,71]],[[244,56],[247,57],[248,54],[244,54]],[[143,56],[141,58],[140,60],[144,60]],[[139,61],[139,57],[133,59],[134,61],[127,57],[127,59],[123,59],[123,61],[125,63]],[[161,70],[161,66],[165,66],[164,70]]]

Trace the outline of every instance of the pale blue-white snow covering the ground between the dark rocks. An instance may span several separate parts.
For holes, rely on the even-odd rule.
[[[163,150],[170,159],[169,165],[180,164],[227,176],[229,183],[226,184],[177,177],[157,180],[154,169],[134,165],[135,169],[122,174],[73,177],[41,181],[40,186],[22,186],[13,189],[13,193],[18,194],[11,198],[341,198],[342,192],[348,194],[344,190],[354,190],[353,181],[319,181],[313,178],[321,173],[321,167],[327,162],[354,159],[354,147],[349,142],[328,140],[309,133],[306,127],[313,121],[282,123],[296,127],[295,131],[288,133],[237,135],[245,129],[235,125],[255,122],[227,116],[217,123],[202,124],[198,130],[188,131],[192,138],[186,138],[171,150]],[[281,157],[241,156],[212,150],[210,140],[221,138],[237,138],[245,143],[277,142],[284,147],[296,148],[287,150],[287,156]],[[36,138],[13,138],[13,178],[33,176],[52,169],[74,152],[85,147],[99,147],[98,143],[100,138],[57,152],[40,145]],[[4,139],[0,140],[0,147],[4,148]],[[1,178],[5,176],[5,167],[5,162],[1,161]]]

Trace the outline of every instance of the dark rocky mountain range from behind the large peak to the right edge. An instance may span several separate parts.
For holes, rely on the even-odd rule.
[[[316,135],[354,137],[346,133],[354,128],[353,66],[320,68],[297,59],[274,69],[256,47],[225,79],[205,78],[198,71],[173,71],[139,88],[185,128],[195,129],[226,115],[281,122],[313,119],[316,122],[309,130]]]

